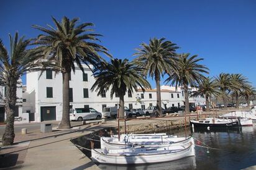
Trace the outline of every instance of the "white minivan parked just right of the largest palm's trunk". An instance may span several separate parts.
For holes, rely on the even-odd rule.
[[[101,119],[102,114],[93,108],[76,108],[70,113],[71,121],[84,121],[91,119]]]

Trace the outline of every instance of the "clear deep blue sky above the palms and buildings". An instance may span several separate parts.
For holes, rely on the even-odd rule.
[[[27,38],[40,32],[37,24],[53,25],[61,19],[80,17],[93,22],[102,45],[114,57],[134,59],[132,54],[149,38],[165,37],[180,49],[198,54],[210,69],[241,73],[256,86],[256,1],[1,1],[0,38],[9,46],[8,33]],[[23,77],[23,80],[25,78]],[[149,79],[152,87],[155,82]],[[162,81],[163,82],[163,81]],[[24,81],[25,83],[25,81]]]

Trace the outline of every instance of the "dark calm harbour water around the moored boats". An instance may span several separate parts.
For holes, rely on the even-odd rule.
[[[198,131],[195,129],[180,129],[167,132],[168,134],[176,134],[179,137],[185,135],[193,135],[196,145],[205,143],[209,147],[216,148],[207,149],[196,147],[196,156],[183,158],[168,163],[149,164],[140,166],[111,166],[99,164],[101,169],[243,169],[256,165],[256,126],[242,127],[235,130],[217,130],[217,131]],[[101,132],[102,133],[102,132]],[[85,143],[86,138],[81,137],[73,142],[83,147],[88,147],[89,143]],[[99,143],[95,143],[95,148],[99,147]],[[207,152],[209,151],[209,153]],[[88,151],[84,150],[87,156]],[[157,159],[157,158],[156,158]]]

